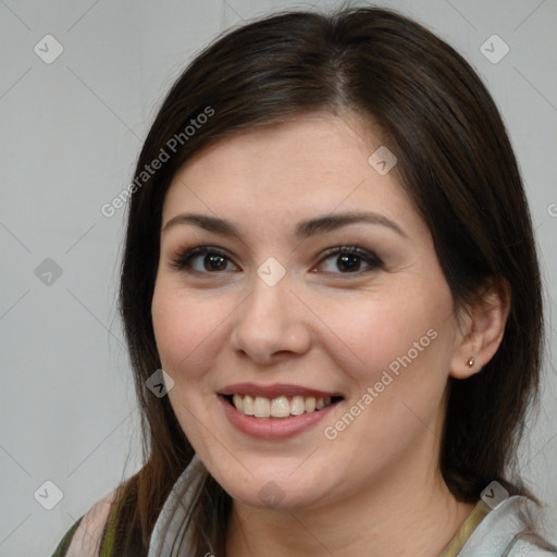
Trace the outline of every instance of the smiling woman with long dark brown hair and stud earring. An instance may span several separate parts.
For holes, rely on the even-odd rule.
[[[512,473],[541,369],[529,209],[454,49],[373,8],[230,32],[131,195],[145,466],[55,555],[557,555]]]

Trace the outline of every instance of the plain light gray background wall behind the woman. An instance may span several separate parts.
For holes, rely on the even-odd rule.
[[[557,523],[557,1],[375,4],[413,16],[463,53],[508,125],[549,313],[542,410],[529,422],[521,463]],[[0,556],[50,555],[77,518],[138,468],[138,412],[115,309],[125,210],[107,218],[100,208],[129,183],[163,95],[222,29],[310,5],[0,0]],[[45,51],[49,34],[63,52],[47,64],[34,48]],[[498,63],[481,51],[494,34],[510,48]],[[54,52],[49,42],[42,55]],[[57,491],[46,481],[63,494],[51,510],[44,506],[57,503]]]

